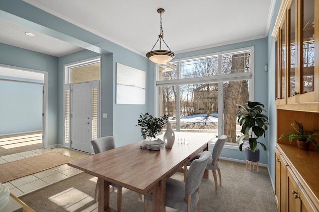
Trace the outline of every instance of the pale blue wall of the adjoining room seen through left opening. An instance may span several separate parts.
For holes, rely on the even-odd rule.
[[[0,134],[42,130],[42,88],[0,81]]]

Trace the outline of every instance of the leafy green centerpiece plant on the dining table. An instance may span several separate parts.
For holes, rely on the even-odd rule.
[[[138,124],[136,126],[141,127],[142,135],[155,138],[155,136],[161,131],[167,122],[167,115],[163,115],[158,118],[147,112],[145,114],[140,114],[140,118],[138,119]]]

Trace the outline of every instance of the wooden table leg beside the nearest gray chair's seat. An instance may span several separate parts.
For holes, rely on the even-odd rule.
[[[160,186],[153,192],[153,212],[165,212],[166,180],[160,180]]]

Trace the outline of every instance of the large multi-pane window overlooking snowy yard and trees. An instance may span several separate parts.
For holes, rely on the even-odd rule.
[[[238,106],[252,96],[253,48],[157,66],[160,115],[176,131],[240,135]]]

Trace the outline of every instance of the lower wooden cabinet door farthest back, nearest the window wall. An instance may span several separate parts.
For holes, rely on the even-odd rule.
[[[275,199],[278,212],[286,211],[286,176],[287,176],[287,162],[275,149]]]

